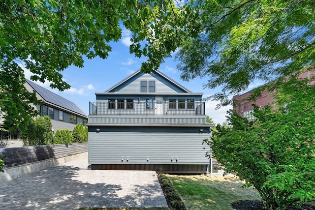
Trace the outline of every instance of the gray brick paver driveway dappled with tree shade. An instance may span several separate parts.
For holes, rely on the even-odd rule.
[[[167,207],[154,171],[88,169],[87,158],[0,183],[0,209]]]

